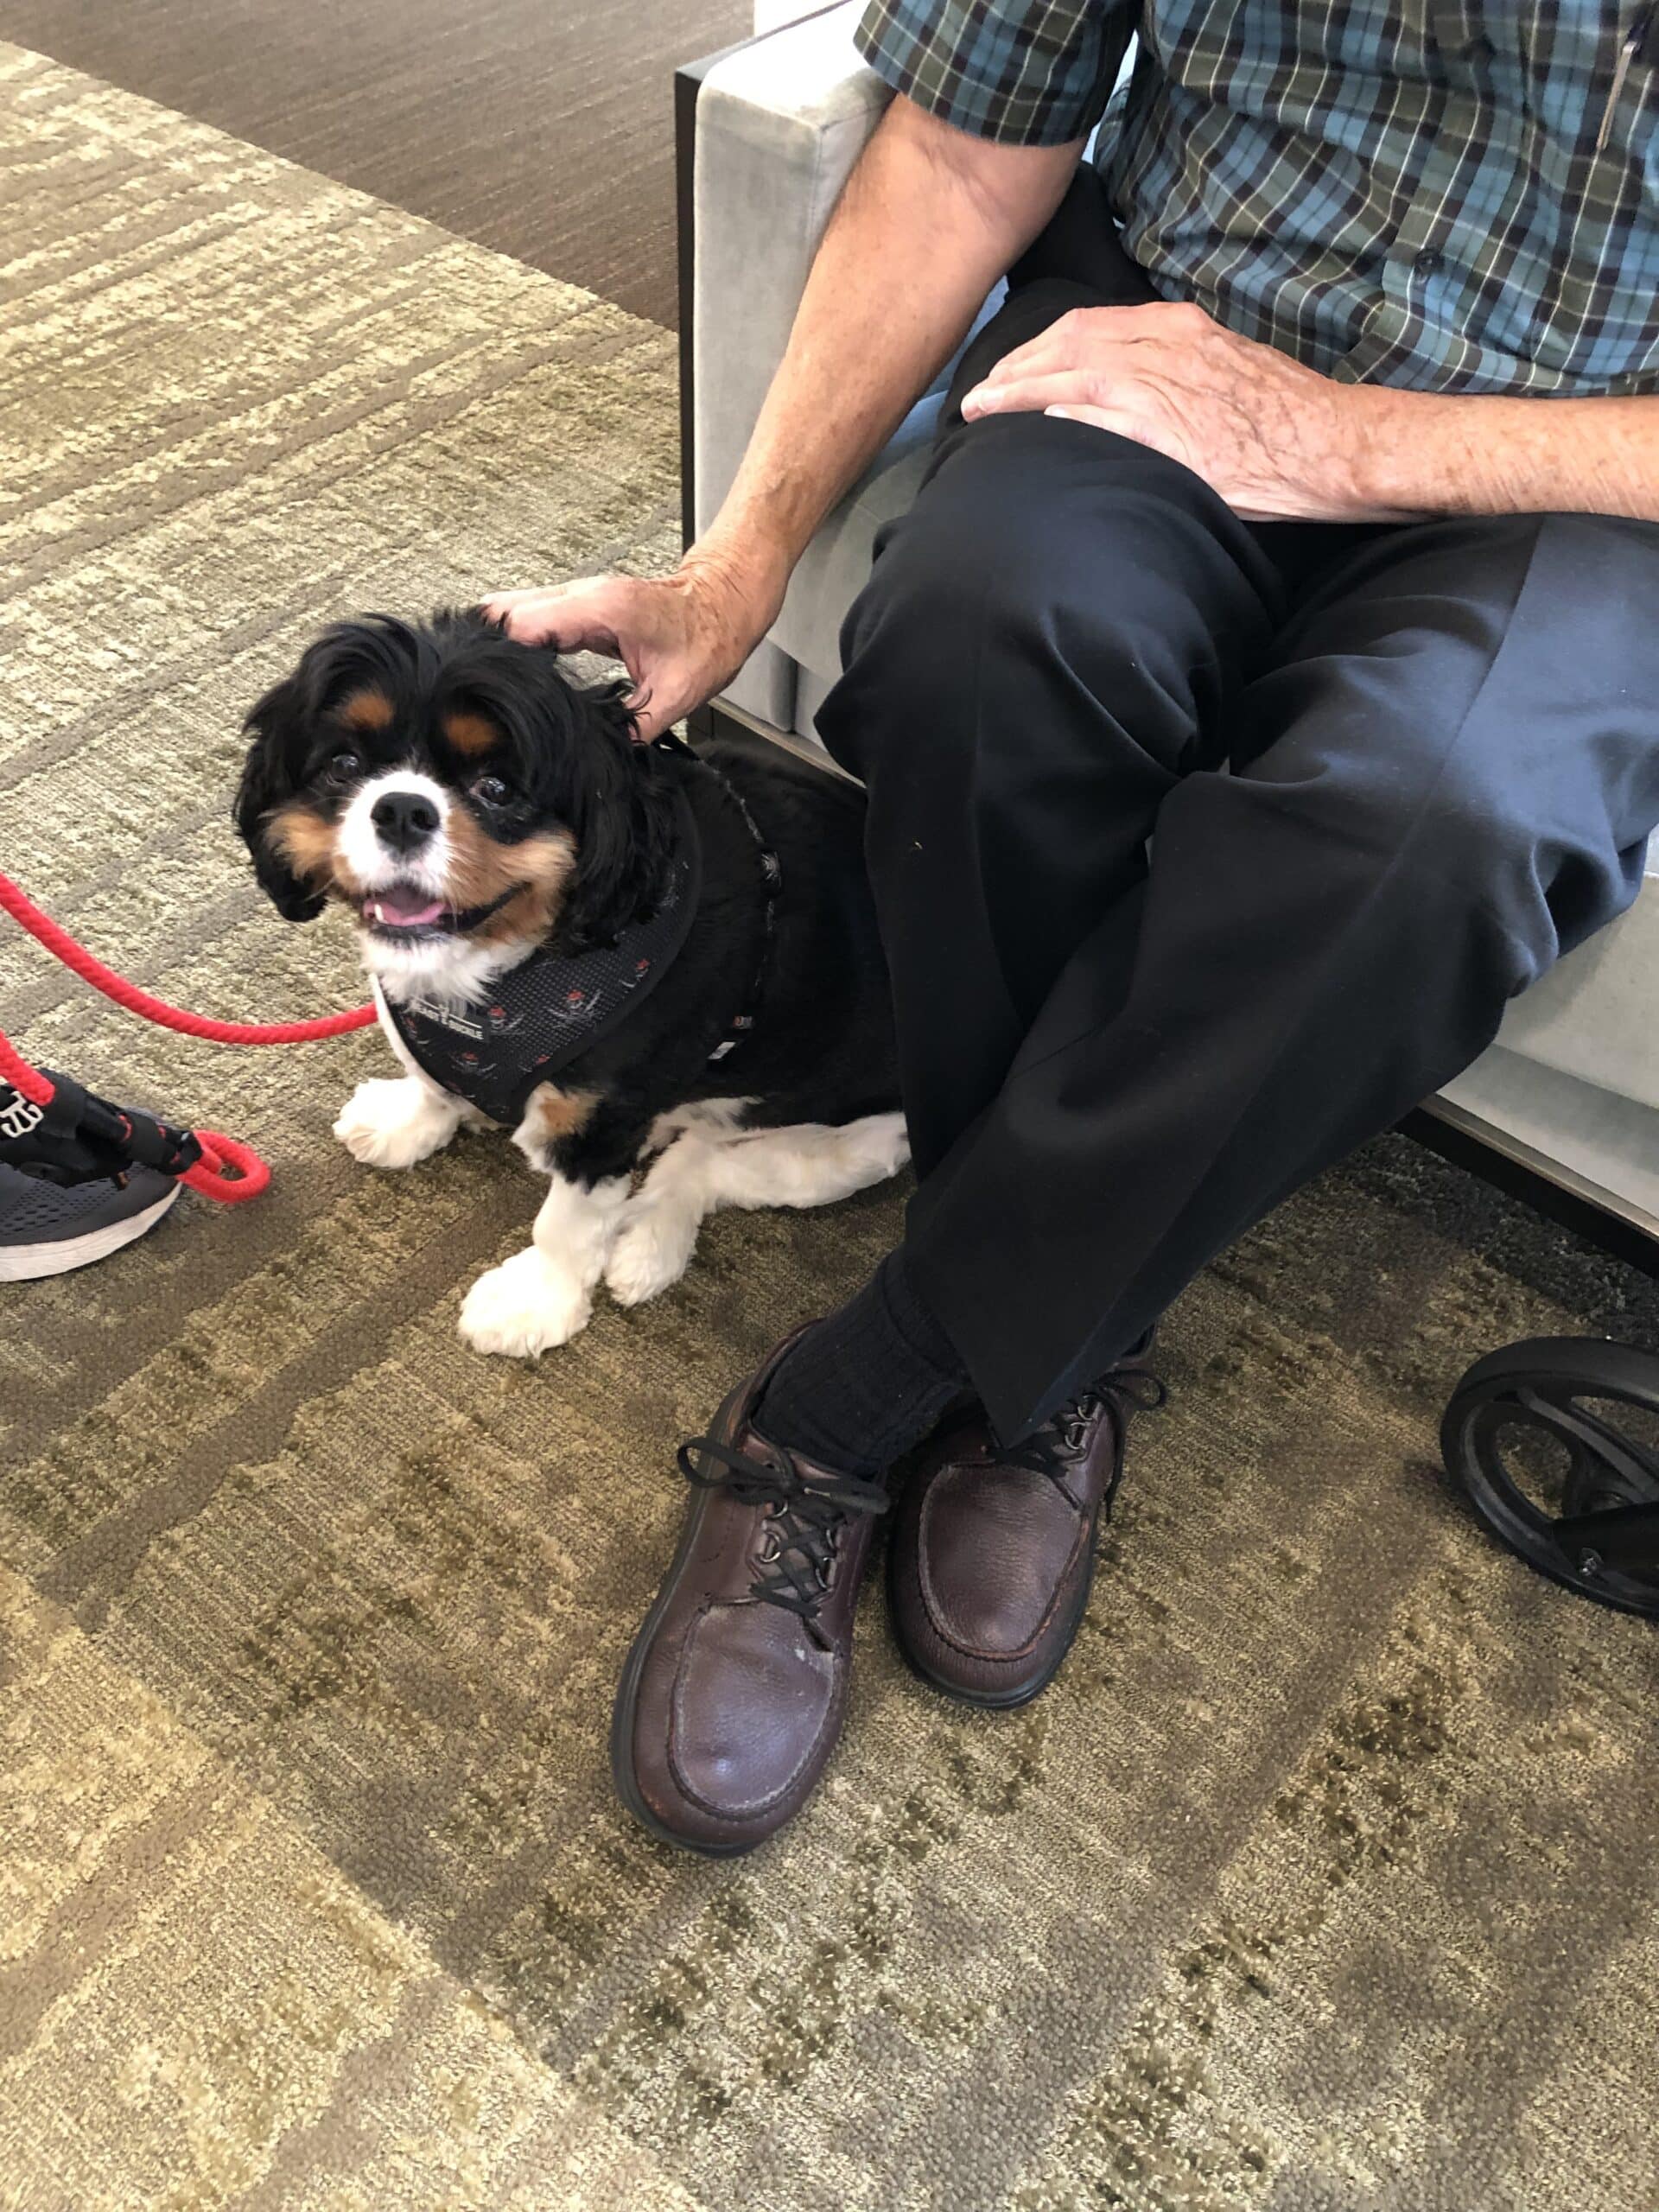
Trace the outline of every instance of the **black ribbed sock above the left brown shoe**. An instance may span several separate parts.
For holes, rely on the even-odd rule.
[[[889,1252],[838,1314],[785,1354],[757,1407],[761,1436],[847,1475],[885,1475],[969,1389],[956,1345]]]

